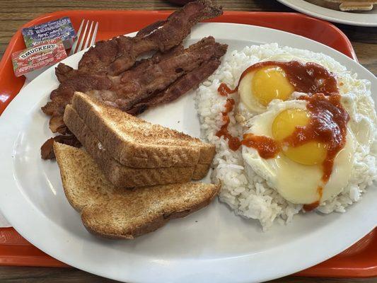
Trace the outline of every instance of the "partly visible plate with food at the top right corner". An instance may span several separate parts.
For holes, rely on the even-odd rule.
[[[277,0],[296,11],[347,25],[377,26],[376,1]]]

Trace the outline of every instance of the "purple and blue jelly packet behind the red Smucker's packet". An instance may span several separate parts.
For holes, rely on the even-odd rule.
[[[76,37],[76,32],[68,17],[34,25],[30,28],[23,28],[22,34],[26,47],[33,47],[39,45],[42,41],[59,37],[62,39],[65,49],[69,49]]]

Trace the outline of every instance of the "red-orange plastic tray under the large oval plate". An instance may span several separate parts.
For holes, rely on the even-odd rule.
[[[149,23],[166,18],[171,11],[59,11],[35,18],[23,27],[69,16],[76,28],[83,18],[98,21],[97,40],[131,33]],[[284,30],[328,45],[356,60],[348,38],[334,25],[299,13],[226,11],[216,22],[244,23]],[[21,29],[20,29],[21,30]],[[0,113],[17,95],[25,79],[13,74],[11,53],[25,48],[21,31],[12,37],[0,62]],[[272,39],[273,41],[273,39]],[[0,265],[67,267],[22,238],[14,229],[0,229]],[[377,229],[340,255],[298,272],[313,277],[377,276]]]

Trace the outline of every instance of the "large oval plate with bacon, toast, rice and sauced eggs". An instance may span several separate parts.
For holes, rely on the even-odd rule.
[[[305,37],[197,23],[219,14],[187,4],[12,100],[0,208],[30,243],[123,282],[262,282],[375,228],[376,77]]]

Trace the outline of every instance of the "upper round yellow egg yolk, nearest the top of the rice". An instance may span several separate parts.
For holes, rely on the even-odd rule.
[[[272,100],[287,100],[294,92],[285,72],[274,66],[255,71],[252,79],[253,94],[262,105],[267,106]]]

